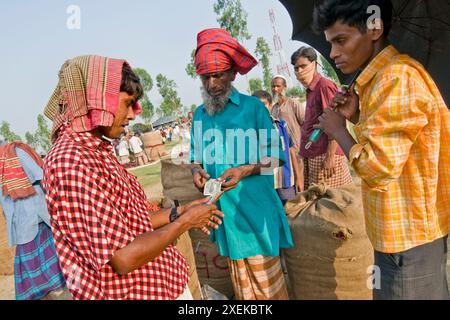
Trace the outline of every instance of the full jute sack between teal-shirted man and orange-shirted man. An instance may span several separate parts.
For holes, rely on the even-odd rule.
[[[285,206],[294,247],[283,251],[293,299],[372,299],[373,248],[360,187],[312,186]]]

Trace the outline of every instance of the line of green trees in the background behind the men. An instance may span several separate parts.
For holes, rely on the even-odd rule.
[[[244,42],[250,40],[252,35],[248,31],[247,25],[247,12],[242,6],[240,0],[216,0],[213,5],[214,13],[217,15],[217,22],[220,28],[227,30],[232,37],[234,37],[239,42]],[[256,39],[256,48],[254,50],[256,58],[259,60],[263,77],[261,78],[251,78],[248,79],[248,93],[252,94],[256,90],[266,90],[271,92],[271,80],[273,78],[273,72],[270,67],[270,58],[272,56],[272,51],[269,44],[263,37],[258,37]],[[197,74],[195,73],[195,49],[191,51],[190,62],[186,66],[186,73],[189,77],[195,79]],[[339,83],[338,77],[333,69],[333,67],[328,63],[328,61],[320,55],[320,71],[328,78]],[[140,100],[142,106],[142,114],[140,117],[143,120],[143,124],[137,124],[137,127],[141,129],[151,128],[152,120],[155,115],[157,116],[183,116],[189,111],[193,111],[196,105],[193,104],[190,107],[184,106],[181,102],[180,97],[177,92],[177,85],[174,80],[168,79],[162,74],[156,76],[156,87],[159,94],[162,97],[162,102],[158,108],[155,108],[153,103],[150,101],[149,93],[153,89],[153,79],[151,75],[142,68],[135,68],[135,73],[141,80],[144,88],[144,96]],[[301,86],[294,86],[289,88],[286,92],[288,96],[291,97],[305,97],[305,89]],[[50,149],[50,129],[48,123],[46,122],[43,115],[37,117],[38,128],[34,133],[26,132],[25,142],[31,145],[33,148],[39,152],[45,154]],[[15,134],[11,128],[10,124],[3,121],[0,124],[0,139],[11,142],[14,140],[23,141],[22,138]]]

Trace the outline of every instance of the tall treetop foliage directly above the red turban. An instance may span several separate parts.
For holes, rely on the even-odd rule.
[[[220,27],[238,41],[251,38],[247,29],[247,12],[242,7],[240,0],[217,0],[214,4],[214,12],[217,14],[217,22]]]

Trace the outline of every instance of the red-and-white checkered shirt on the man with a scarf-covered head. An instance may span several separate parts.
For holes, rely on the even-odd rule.
[[[188,280],[184,257],[169,245],[126,275],[114,253],[151,232],[147,198],[110,143],[67,128],[45,159],[44,186],[56,251],[75,299],[176,299]]]

